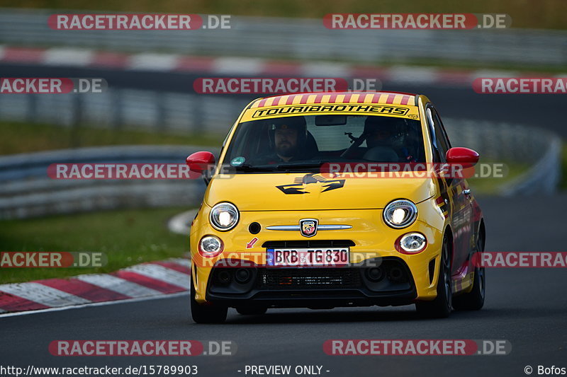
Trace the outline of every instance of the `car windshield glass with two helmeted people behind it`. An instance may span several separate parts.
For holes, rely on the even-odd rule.
[[[224,165],[274,171],[332,162],[422,163],[419,120],[370,115],[305,115],[242,122]]]

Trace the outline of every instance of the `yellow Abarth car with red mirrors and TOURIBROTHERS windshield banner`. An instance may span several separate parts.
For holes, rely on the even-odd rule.
[[[252,101],[218,163],[186,161],[208,185],[191,226],[193,320],[223,322],[229,307],[480,309],[485,226],[463,173],[477,162],[425,95]]]

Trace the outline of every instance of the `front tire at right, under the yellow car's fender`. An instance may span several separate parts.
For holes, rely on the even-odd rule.
[[[437,297],[433,301],[415,303],[417,313],[423,318],[447,318],[451,314],[451,253],[449,239],[443,239],[441,263],[439,263],[439,279],[437,279]]]

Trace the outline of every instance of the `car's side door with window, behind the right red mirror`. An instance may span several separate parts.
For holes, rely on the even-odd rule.
[[[451,148],[447,132],[443,127],[439,114],[432,105],[426,108],[427,122],[430,125],[432,145],[434,148],[434,162],[447,163],[446,154]],[[453,231],[453,274],[459,273],[459,268],[466,262],[471,250],[472,236],[472,202],[470,189],[464,178],[439,178],[439,187],[442,187],[442,197],[449,203],[449,221]]]

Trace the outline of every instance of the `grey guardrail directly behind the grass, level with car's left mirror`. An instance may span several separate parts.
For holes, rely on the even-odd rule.
[[[0,158],[0,219],[122,207],[196,207],[203,180],[52,180],[52,163],[184,163],[198,146],[109,146]],[[213,149],[213,152],[218,152]]]

